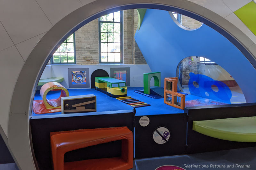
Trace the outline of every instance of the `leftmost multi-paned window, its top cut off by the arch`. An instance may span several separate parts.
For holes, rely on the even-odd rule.
[[[56,50],[51,58],[51,64],[76,64],[75,33]]]

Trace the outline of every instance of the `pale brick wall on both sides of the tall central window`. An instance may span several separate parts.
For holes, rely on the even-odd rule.
[[[136,9],[123,13],[123,56],[124,64],[147,64],[140,48],[134,41],[138,25]],[[99,64],[98,19],[91,21],[75,32],[76,64]]]

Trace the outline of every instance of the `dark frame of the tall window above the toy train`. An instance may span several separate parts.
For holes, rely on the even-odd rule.
[[[114,13],[114,12],[111,12]],[[108,15],[108,14],[107,14]],[[101,61],[101,29],[100,23],[120,23],[120,62],[102,62]],[[123,55],[123,11],[120,11],[120,22],[116,21],[100,21],[100,17],[98,18],[99,24],[99,63],[100,64],[122,64],[124,63],[124,55]],[[115,42],[115,38],[114,38]],[[107,41],[108,43],[108,41]],[[114,51],[115,54],[115,51]]]

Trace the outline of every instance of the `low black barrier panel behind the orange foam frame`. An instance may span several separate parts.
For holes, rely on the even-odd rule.
[[[35,157],[40,170],[52,170],[50,132],[127,126],[134,132],[134,113],[113,111],[112,114],[77,116],[77,114],[35,116],[30,119]],[[74,115],[74,116],[73,116]],[[55,117],[54,117],[55,116]],[[65,161],[120,156],[121,141],[109,142],[68,152]]]

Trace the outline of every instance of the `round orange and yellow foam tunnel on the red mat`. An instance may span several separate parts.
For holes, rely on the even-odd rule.
[[[61,91],[60,97],[58,99],[51,99],[51,100],[46,99],[46,95],[48,92],[57,91],[57,90]],[[69,93],[68,93],[68,90],[60,83],[49,82],[49,83],[44,84],[41,87],[40,95],[43,99],[45,108],[52,109],[52,108],[60,108],[61,107],[60,98],[69,96]]]

